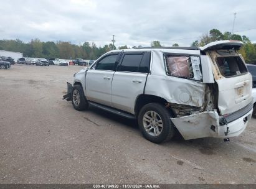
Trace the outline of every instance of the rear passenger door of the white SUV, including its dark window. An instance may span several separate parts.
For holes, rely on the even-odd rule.
[[[151,52],[124,52],[113,76],[112,103],[117,109],[134,113],[139,94],[143,94],[149,73]]]

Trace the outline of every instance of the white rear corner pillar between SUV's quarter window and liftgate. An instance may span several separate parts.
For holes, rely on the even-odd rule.
[[[201,66],[202,66],[202,82],[203,83],[214,83],[214,76],[212,73],[212,65],[209,56],[201,55]]]

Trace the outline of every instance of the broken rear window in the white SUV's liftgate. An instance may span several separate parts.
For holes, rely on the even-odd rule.
[[[216,62],[220,73],[225,77],[237,76],[248,72],[244,62],[238,56],[217,57]]]

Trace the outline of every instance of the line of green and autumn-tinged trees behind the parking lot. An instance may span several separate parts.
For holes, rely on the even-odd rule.
[[[204,46],[210,42],[217,40],[240,40],[244,42],[244,46],[239,50],[245,59],[246,63],[256,64],[256,44],[252,44],[249,38],[245,35],[232,34],[231,32],[220,32],[218,29],[212,29],[209,33],[201,35],[199,40],[192,42],[192,46]],[[151,47],[161,47],[162,45],[158,40],[151,42]],[[174,47],[179,44],[173,44]],[[139,45],[138,48],[142,46]],[[41,42],[39,39],[32,39],[28,43],[22,42],[22,40],[0,40],[0,50],[9,50],[13,52],[22,52],[24,57],[38,57],[38,58],[64,58],[69,59],[83,58],[95,60],[103,53],[106,53],[112,49],[116,49],[113,44],[104,45],[103,47],[97,47],[94,43],[90,44],[84,42],[83,45],[75,45],[70,42]],[[127,45],[120,46],[118,49],[128,48]],[[136,48],[136,47],[133,47]]]

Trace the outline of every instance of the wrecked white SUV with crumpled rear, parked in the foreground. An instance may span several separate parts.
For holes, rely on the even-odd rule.
[[[96,106],[138,119],[143,136],[160,143],[239,136],[252,116],[252,76],[237,53],[242,42],[204,47],[112,50],[74,75],[73,107]]]

